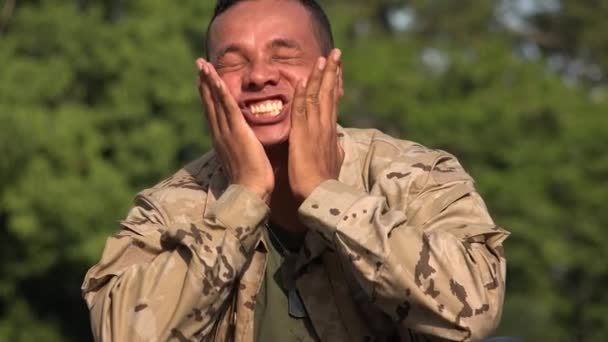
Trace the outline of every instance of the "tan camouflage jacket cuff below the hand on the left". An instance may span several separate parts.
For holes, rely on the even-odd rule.
[[[242,240],[267,219],[270,208],[253,191],[231,184],[215,202],[213,212],[226,230]]]

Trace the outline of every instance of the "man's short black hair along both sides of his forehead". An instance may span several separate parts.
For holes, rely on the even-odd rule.
[[[215,10],[213,11],[213,17],[207,26],[207,39],[205,43],[207,46],[207,55],[209,54],[209,31],[211,29],[211,25],[215,21],[215,18],[241,1],[246,0],[217,0]],[[329,52],[334,48],[334,36],[331,31],[331,23],[329,22],[327,14],[325,14],[325,11],[323,11],[321,5],[319,5],[319,3],[315,0],[294,1],[298,1],[310,13],[310,16],[314,22],[315,35],[317,36],[317,41],[321,47],[321,52],[324,55],[329,55]]]

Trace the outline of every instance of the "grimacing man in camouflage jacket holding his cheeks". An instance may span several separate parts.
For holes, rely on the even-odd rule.
[[[480,340],[505,285],[456,159],[336,124],[313,0],[218,1],[199,91],[214,150],[141,192],[83,284],[104,341]]]

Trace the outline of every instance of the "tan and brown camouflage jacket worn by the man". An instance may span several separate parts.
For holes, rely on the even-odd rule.
[[[476,341],[500,320],[502,242],[450,154],[339,129],[339,180],[299,208],[297,288],[321,341]],[[270,209],[210,152],[137,195],[87,273],[103,341],[253,341]]]

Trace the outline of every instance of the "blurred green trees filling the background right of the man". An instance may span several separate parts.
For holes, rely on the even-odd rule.
[[[602,12],[590,2],[514,3],[339,6],[350,85],[342,119],[453,152],[478,181],[513,232],[500,334],[603,341],[608,266],[595,261],[608,253]],[[543,26],[573,16],[580,41],[569,40],[569,26]],[[588,17],[598,25],[584,25]]]

